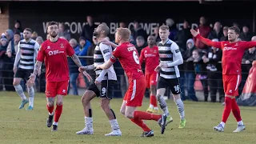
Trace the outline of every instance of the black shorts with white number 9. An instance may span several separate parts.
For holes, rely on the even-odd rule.
[[[90,86],[87,88],[87,90],[93,91],[99,98],[112,99],[116,82],[117,81],[115,80],[103,80],[99,86],[96,86],[93,82],[90,83]]]

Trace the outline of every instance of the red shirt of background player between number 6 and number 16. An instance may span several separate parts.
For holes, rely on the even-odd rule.
[[[146,46],[142,49],[141,55],[139,57],[139,63],[146,63],[146,74],[153,74],[154,69],[159,65],[159,54],[158,54],[158,46],[154,46],[150,48]]]

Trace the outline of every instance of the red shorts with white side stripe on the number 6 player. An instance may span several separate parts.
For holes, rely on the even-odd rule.
[[[126,106],[142,106],[142,100],[146,90],[146,79],[134,79],[130,82],[130,86],[126,91],[124,101]]]

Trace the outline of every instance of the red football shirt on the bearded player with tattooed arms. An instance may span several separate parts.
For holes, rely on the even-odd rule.
[[[74,50],[66,39],[58,38],[57,42],[46,40],[42,43],[37,60],[46,65],[46,81],[62,82],[70,79],[66,55],[72,56]]]

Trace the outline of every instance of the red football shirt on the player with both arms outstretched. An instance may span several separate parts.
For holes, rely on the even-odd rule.
[[[222,49],[222,74],[242,74],[242,56],[246,49],[256,46],[256,42],[212,42],[210,39],[203,38],[200,34],[196,38],[199,38],[208,46]]]

